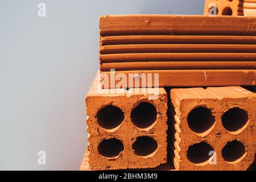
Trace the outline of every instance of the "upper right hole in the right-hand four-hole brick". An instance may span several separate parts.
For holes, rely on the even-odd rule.
[[[248,119],[247,111],[238,107],[229,109],[221,117],[222,125],[228,131],[240,130],[243,126],[246,125]]]

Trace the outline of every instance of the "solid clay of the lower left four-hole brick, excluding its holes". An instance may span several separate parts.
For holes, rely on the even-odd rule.
[[[167,163],[167,93],[159,88],[158,98],[150,100],[150,94],[134,92],[133,89],[109,89],[101,90],[99,72],[86,96],[86,113],[88,118],[88,151],[90,168],[100,169],[127,169],[127,168],[153,168],[160,164]],[[99,91],[100,89],[100,91]],[[102,93],[108,92],[108,93]],[[114,93],[111,93],[114,92]],[[123,93],[121,93],[123,92]],[[131,111],[141,103],[150,103],[156,109],[156,120],[147,127],[136,127],[131,121]],[[112,105],[122,110],[124,119],[120,125],[113,128],[102,125],[108,118],[101,118],[101,126],[97,119],[97,113],[104,107]],[[150,114],[145,113],[143,117]],[[112,115],[115,115],[113,113]],[[148,155],[136,155],[136,148],[133,148],[138,137],[147,136],[154,139],[158,146],[156,150]],[[123,151],[117,156],[99,154],[98,146],[105,139],[118,139],[123,144]],[[114,148],[111,146],[110,148]],[[139,146],[140,147],[140,146]],[[141,148],[148,150],[151,146]],[[103,148],[106,150],[108,147]],[[140,156],[139,156],[140,155]]]

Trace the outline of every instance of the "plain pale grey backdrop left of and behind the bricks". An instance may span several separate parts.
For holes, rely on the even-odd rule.
[[[38,4],[46,4],[46,17]],[[100,14],[203,14],[204,0],[0,0],[0,169],[77,170]],[[38,164],[46,151],[46,165]]]

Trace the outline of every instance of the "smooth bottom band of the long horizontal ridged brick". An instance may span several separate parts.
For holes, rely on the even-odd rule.
[[[102,80],[102,86],[104,88],[113,88],[118,85],[119,80],[111,80],[111,72],[104,72],[108,77]],[[231,86],[231,85],[255,85],[256,70],[255,69],[188,69],[188,70],[149,70],[149,71],[115,71],[115,75],[122,73],[129,78],[129,74],[146,75],[155,74],[159,76],[160,87],[163,86]],[[131,78],[133,79],[133,78]],[[140,78],[142,80],[142,78]],[[106,84],[105,81],[109,84]],[[133,85],[129,85],[127,79],[127,86],[141,87],[142,82],[135,85],[135,79],[133,79]],[[151,79],[152,85],[155,85],[154,79]]]

